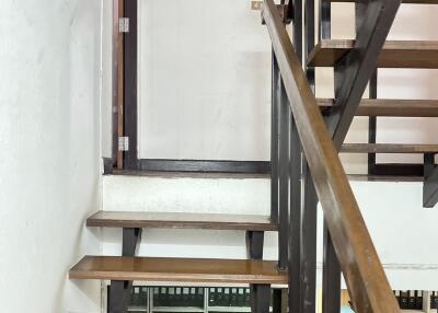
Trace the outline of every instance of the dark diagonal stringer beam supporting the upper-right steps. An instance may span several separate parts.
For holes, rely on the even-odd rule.
[[[344,142],[367,83],[377,68],[400,3],[401,0],[356,0],[358,10],[365,10],[365,14],[358,21],[355,47],[335,66],[337,105],[331,109],[327,118],[337,150]]]

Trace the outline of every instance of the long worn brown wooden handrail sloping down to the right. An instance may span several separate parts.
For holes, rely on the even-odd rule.
[[[338,153],[273,0],[263,19],[356,312],[400,312]]]

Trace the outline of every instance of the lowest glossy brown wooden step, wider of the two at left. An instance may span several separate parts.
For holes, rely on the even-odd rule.
[[[287,283],[277,262],[170,257],[85,256],[70,279],[165,282]]]

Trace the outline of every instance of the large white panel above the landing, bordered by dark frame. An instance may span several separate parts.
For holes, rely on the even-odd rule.
[[[139,2],[139,155],[269,160],[270,45],[250,1]]]

